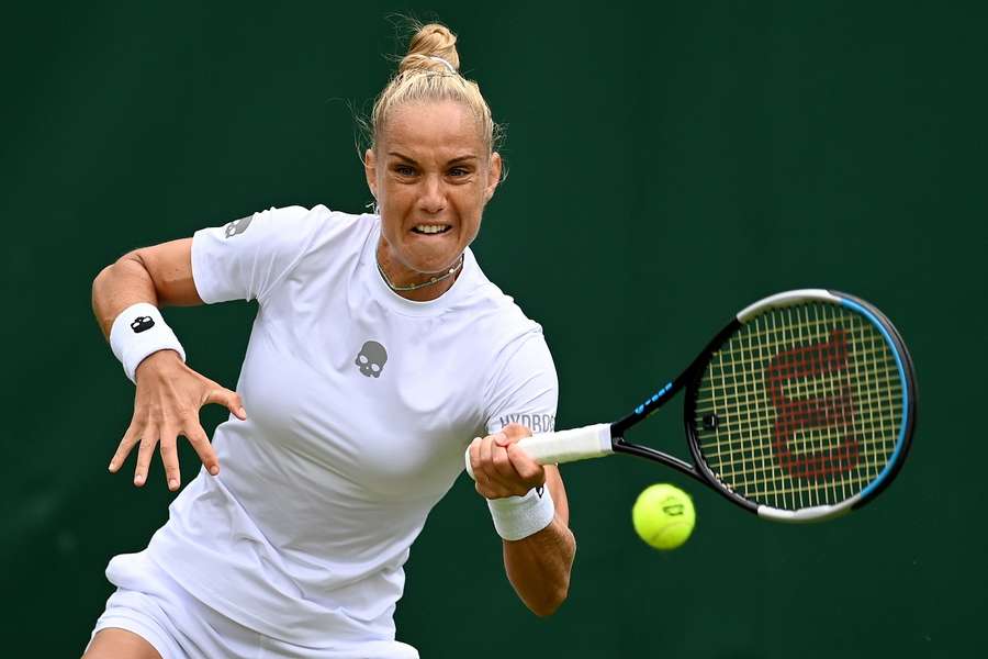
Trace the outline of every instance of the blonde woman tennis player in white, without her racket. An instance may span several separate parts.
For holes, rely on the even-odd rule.
[[[143,485],[157,450],[178,490],[178,436],[203,469],[144,551],[110,561],[88,659],[417,657],[395,640],[403,565],[468,445],[518,595],[538,615],[565,599],[563,483],[515,446],[551,429],[555,369],[469,248],[502,164],[454,44],[422,26],[378,98],[377,213],[270,209],[97,277],[97,319],[137,387],[110,471],[138,447]],[[259,302],[236,392],[186,365],[158,311],[228,300]],[[232,413],[212,444],[206,403]]]

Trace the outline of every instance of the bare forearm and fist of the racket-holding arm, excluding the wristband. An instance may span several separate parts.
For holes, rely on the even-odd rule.
[[[504,567],[518,596],[539,616],[551,615],[566,599],[576,539],[569,528],[570,510],[559,469],[542,467],[515,444],[531,432],[517,424],[475,440],[470,448],[476,491],[486,499],[520,496],[544,485],[555,505],[543,529],[520,540],[505,540]]]

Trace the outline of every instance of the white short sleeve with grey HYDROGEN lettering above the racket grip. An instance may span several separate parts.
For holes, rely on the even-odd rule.
[[[524,334],[502,350],[485,396],[489,434],[510,423],[519,423],[532,434],[555,428],[559,380],[540,328]]]

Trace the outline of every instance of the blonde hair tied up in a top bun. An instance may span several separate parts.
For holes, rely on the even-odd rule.
[[[501,129],[491,118],[491,108],[480,87],[459,74],[457,35],[439,23],[412,22],[415,34],[397,72],[374,101],[370,116],[370,148],[377,149],[391,112],[404,103],[456,101],[469,109],[478,122],[487,153],[494,150]]]

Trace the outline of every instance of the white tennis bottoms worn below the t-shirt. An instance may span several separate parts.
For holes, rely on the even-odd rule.
[[[121,556],[108,577],[117,584],[92,636],[110,627],[137,634],[162,659],[418,659],[409,645],[368,640],[338,649],[284,643],[245,627],[193,597],[143,554]]]

